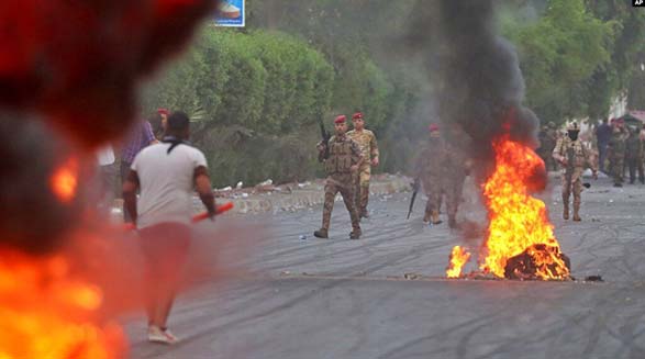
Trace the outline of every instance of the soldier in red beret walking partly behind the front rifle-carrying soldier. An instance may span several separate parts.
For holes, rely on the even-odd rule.
[[[355,178],[354,197],[356,198],[356,211],[360,217],[368,217],[367,202],[369,199],[369,178],[371,166],[378,166],[378,146],[376,136],[369,130],[365,130],[363,113],[357,112],[352,116],[354,130],[347,136],[358,144],[363,154],[363,165]]]

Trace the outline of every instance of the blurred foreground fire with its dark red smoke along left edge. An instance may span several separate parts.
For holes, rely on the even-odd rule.
[[[80,183],[133,123],[137,82],[215,2],[0,3],[0,358],[125,356],[108,293],[67,251],[98,215]]]

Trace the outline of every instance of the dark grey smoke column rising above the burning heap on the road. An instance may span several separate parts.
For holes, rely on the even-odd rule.
[[[420,1],[416,10],[407,44],[427,58],[441,122],[459,124],[483,162],[504,133],[535,146],[537,119],[522,106],[524,79],[513,46],[497,34],[493,1]]]

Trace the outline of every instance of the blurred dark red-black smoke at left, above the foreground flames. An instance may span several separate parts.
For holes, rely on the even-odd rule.
[[[62,202],[53,172],[73,153],[81,172],[94,165],[88,149],[135,120],[138,81],[179,53],[216,4],[0,1],[0,246],[49,253],[87,222],[87,178],[80,173],[74,200]]]

